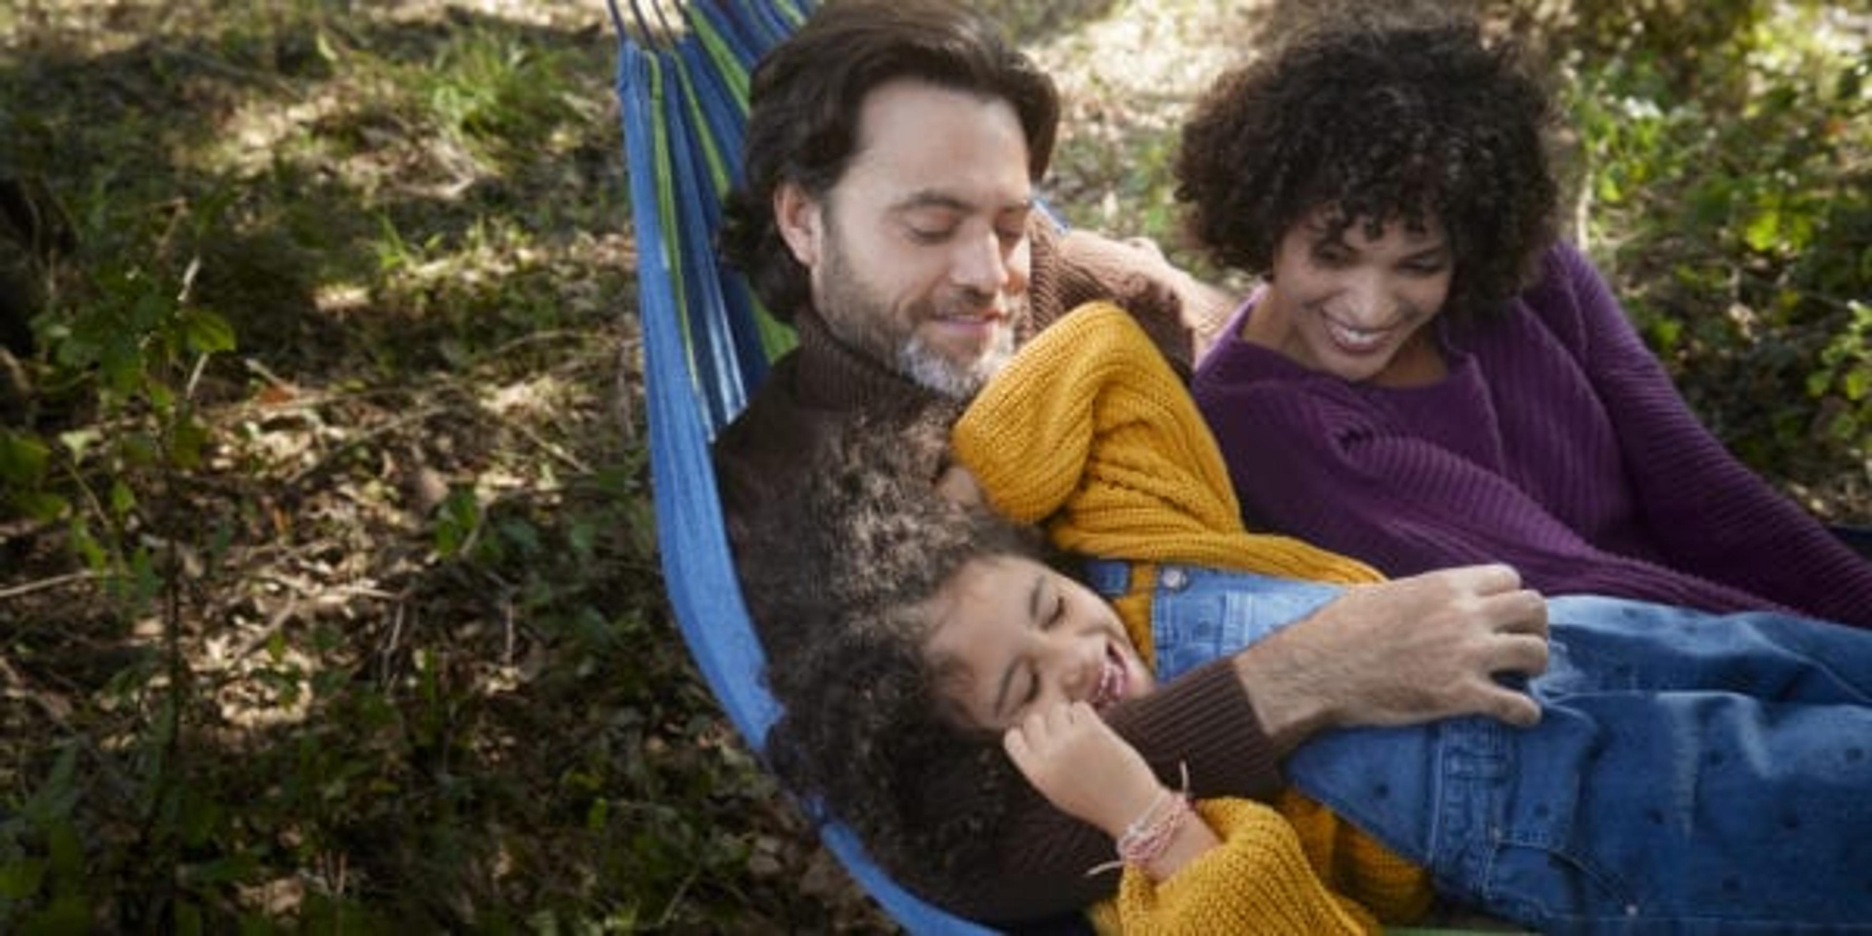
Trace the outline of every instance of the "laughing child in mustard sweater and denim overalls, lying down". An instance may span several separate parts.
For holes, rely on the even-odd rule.
[[[1065,404],[1048,408],[1058,401]],[[1148,580],[1142,595],[1133,592],[1114,608],[1005,547],[962,558],[970,537],[955,535],[953,548],[929,552],[930,567],[942,569],[932,590],[904,595],[895,623],[854,631],[917,648],[899,659],[921,653],[925,704],[942,711],[936,721],[951,724],[951,734],[1018,728],[1009,732],[1007,749],[1043,792],[1061,809],[1123,831],[1129,822],[1121,816],[1140,809],[1140,786],[1157,784],[1140,784],[1140,771],[1149,773],[1142,762],[1061,706],[1144,693],[1146,655],[1155,657],[1161,676],[1174,676],[1265,636],[1333,597],[1335,588],[1211,567],[1262,565],[1256,556],[1267,548],[1241,530],[1226,483],[1183,483],[1219,474],[1221,457],[1213,442],[1202,444],[1200,417],[1168,365],[1116,309],[1075,313],[1024,348],[953,438],[957,457],[998,507],[1016,519],[1052,517],[1056,539],[1097,543],[1108,558],[1161,565],[1095,563],[1093,578],[1114,595]],[[1179,455],[1138,472],[1136,451],[1187,451],[1191,464],[1174,470]],[[1039,481],[1020,487],[1009,479]],[[930,517],[915,524],[940,526]],[[1198,556],[1206,565],[1174,562],[1183,558],[1177,539],[1221,547],[1228,537],[1241,545],[1239,562],[1221,552]],[[867,565],[856,562],[854,569]],[[880,590],[889,593],[887,584]],[[1872,782],[1863,749],[1872,738],[1872,636],[1771,614],[1707,618],[1591,597],[1554,599],[1550,616],[1552,666],[1529,681],[1543,700],[1541,726],[1516,732],[1486,719],[1455,719],[1342,732],[1295,753],[1290,779],[1432,872],[1440,891],[1541,929],[1690,919],[1846,925],[1872,914],[1872,897],[1855,878],[1872,857],[1872,809],[1863,803]],[[904,668],[915,670],[917,661]],[[1541,666],[1511,659],[1501,668]],[[878,691],[900,685],[859,668],[846,668],[842,680]],[[829,715],[784,702],[782,724]],[[784,734],[777,728],[769,743],[786,751]],[[820,762],[835,758],[837,766],[826,768],[833,773],[839,766],[857,771],[861,762],[891,764],[899,741],[899,732],[882,730],[826,747]],[[1061,766],[1056,751],[1073,758]],[[1082,754],[1114,758],[1116,766],[1093,771]],[[863,784],[869,777],[857,773]],[[1104,782],[1075,792],[1061,777]],[[897,784],[900,794],[915,777]],[[841,809],[839,796],[827,799]],[[1140,827],[1177,816],[1168,803],[1151,799]],[[1232,919],[1280,929],[1286,921],[1305,932],[1333,919],[1337,902],[1322,887],[1368,902],[1402,895],[1389,910],[1404,915],[1413,900],[1421,908],[1411,878],[1397,872],[1383,848],[1333,829],[1333,816],[1301,797],[1284,797],[1280,807],[1292,826],[1327,829],[1307,837],[1318,878],[1312,891],[1271,893],[1265,885],[1297,878],[1292,863],[1279,859],[1279,841],[1292,829],[1228,826],[1226,816],[1206,812],[1222,848],[1200,852],[1161,884],[1151,882],[1151,870],[1174,867],[1127,870],[1119,893],[1127,925]],[[960,820],[966,805],[949,816]],[[865,824],[854,826],[867,833]],[[973,829],[985,831],[992,824]],[[1346,852],[1325,854],[1340,848],[1350,850],[1350,861]],[[1299,914],[1312,915],[1294,923]],[[1353,919],[1370,925],[1370,917]]]

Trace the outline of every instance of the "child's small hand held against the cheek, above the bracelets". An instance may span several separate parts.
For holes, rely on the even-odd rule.
[[[1114,839],[1163,790],[1138,749],[1086,702],[1030,713],[1002,736],[1002,747],[1046,801]]]

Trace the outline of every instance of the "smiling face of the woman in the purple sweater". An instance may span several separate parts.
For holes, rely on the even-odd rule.
[[[1342,380],[1411,384],[1441,376],[1441,354],[1423,326],[1443,309],[1455,256],[1443,227],[1365,221],[1329,236],[1320,210],[1275,247],[1273,281],[1256,309],[1277,328],[1277,350]],[[1284,324],[1286,328],[1279,328]]]

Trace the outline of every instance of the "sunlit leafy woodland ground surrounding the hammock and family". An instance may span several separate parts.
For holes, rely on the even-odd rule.
[[[988,6],[1052,200],[1200,268],[1176,120],[1305,4]],[[1872,17],[1483,11],[1692,406],[1872,522]],[[595,0],[0,9],[0,930],[887,929],[663,605],[612,51]]]

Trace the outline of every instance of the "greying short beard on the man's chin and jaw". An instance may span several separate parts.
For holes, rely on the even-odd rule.
[[[827,243],[822,290],[824,301],[818,313],[839,341],[942,397],[957,401],[973,397],[1015,354],[1013,328],[998,328],[988,346],[972,361],[955,361],[930,348],[915,331],[915,322],[936,318],[932,303],[915,303],[910,309],[912,326],[904,329],[891,316],[891,307],[880,301],[846,262],[844,245],[837,234]],[[827,314],[831,309],[837,313]]]

